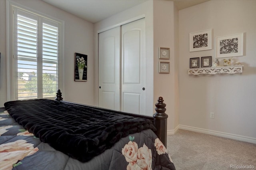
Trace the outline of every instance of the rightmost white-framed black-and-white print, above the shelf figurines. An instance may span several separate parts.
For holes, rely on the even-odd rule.
[[[216,58],[243,56],[244,33],[216,37]]]

